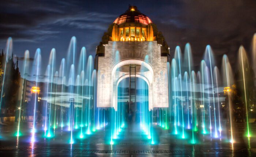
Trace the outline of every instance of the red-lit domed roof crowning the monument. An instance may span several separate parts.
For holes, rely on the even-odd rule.
[[[146,15],[140,13],[136,6],[129,6],[129,9],[114,21],[114,23],[116,24],[122,24],[127,22],[143,24],[152,23]]]

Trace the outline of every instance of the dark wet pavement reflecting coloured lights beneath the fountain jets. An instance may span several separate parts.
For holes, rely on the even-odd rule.
[[[20,137],[15,136],[17,123],[0,123],[0,154],[1,156],[256,156],[256,137],[250,139],[244,136],[244,123],[234,124],[233,145],[225,137],[211,138],[209,135],[197,134],[196,144],[189,139],[181,139],[157,125],[154,126],[154,141],[140,129],[139,124],[127,124],[120,132],[114,144],[110,145],[111,128],[96,130],[92,134],[84,134],[80,139],[80,129],[73,132],[74,143],[69,144],[70,131],[67,128],[57,128],[52,137],[47,138],[42,124],[37,124],[34,142],[31,142],[30,129],[32,123],[21,123]],[[256,124],[251,123],[252,135],[255,134]],[[83,132],[86,132],[84,129]],[[228,134],[229,131],[227,131]],[[253,133],[254,132],[254,133]]]

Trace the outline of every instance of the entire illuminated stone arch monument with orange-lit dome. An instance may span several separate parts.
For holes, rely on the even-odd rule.
[[[127,77],[130,78],[130,97],[132,77],[139,77],[148,85],[149,110],[168,107],[169,58],[169,46],[162,33],[136,6],[130,6],[110,24],[97,46],[97,107],[114,107],[117,110],[117,87]],[[132,74],[132,71],[135,72]]]

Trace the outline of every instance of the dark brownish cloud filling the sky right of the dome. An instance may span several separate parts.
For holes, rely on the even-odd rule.
[[[234,64],[240,45],[250,49],[256,32],[255,8],[254,0],[181,0],[159,9],[156,18],[160,20],[155,23],[159,23],[173,53],[177,45],[184,49],[189,42],[198,65],[205,47],[211,45],[217,65],[223,54]]]

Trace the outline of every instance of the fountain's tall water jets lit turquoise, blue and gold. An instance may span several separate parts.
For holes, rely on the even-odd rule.
[[[255,36],[252,42],[253,56],[256,53]],[[117,63],[121,62],[122,55],[117,50],[116,43],[112,46],[115,54],[112,60]],[[8,60],[11,49],[12,39],[8,38],[5,60]],[[106,143],[113,145],[122,139],[123,131],[129,125],[126,117],[126,100],[129,96],[126,91],[128,88],[126,78],[129,77],[127,68],[131,66],[124,64],[113,73],[113,76],[120,78],[120,80],[116,79],[117,88],[113,89],[117,91],[116,100],[113,100],[116,101],[116,106],[104,107],[101,106],[103,102],[97,104],[97,97],[104,96],[97,93],[97,87],[103,86],[97,80],[98,77],[104,80],[105,75],[93,68],[93,57],[91,55],[87,57],[85,47],[82,47],[80,55],[76,53],[76,38],[72,37],[68,48],[68,58],[62,58],[58,71],[56,69],[57,51],[53,48],[50,52],[48,66],[42,74],[41,50],[36,50],[33,62],[29,58],[29,51],[25,51],[20,80],[21,101],[17,108],[19,117],[21,117],[22,110],[25,110],[23,108],[23,102],[26,100],[24,90],[28,83],[32,84],[32,104],[30,105],[32,112],[29,118],[31,142],[40,141],[40,134],[44,134],[44,138],[49,140],[58,139],[60,137],[56,131],[61,131],[70,136],[69,143],[72,145],[78,142],[78,139],[90,138],[91,134],[97,134],[97,131],[105,130],[105,128],[111,130],[109,139],[107,139],[110,141]],[[219,71],[218,66],[215,65],[214,52],[210,45],[206,46],[203,60],[197,65],[199,69],[193,64],[193,53],[189,43],[185,46],[184,58],[180,47],[177,46],[174,58],[166,64],[167,73],[159,71],[161,77],[157,78],[159,82],[161,82],[159,79],[168,82],[169,95],[158,97],[161,101],[168,97],[168,107],[150,107],[150,80],[144,76],[150,74],[147,64],[150,63],[151,53],[150,51],[144,57],[145,62],[141,65],[135,64],[135,68],[138,69],[136,72],[138,101],[135,110],[138,117],[135,119],[139,122],[143,137],[152,145],[159,142],[156,137],[157,129],[170,130],[169,136],[191,144],[200,143],[206,139],[216,141],[223,138],[231,143],[237,142],[234,135],[237,130],[234,128],[233,95],[235,90],[240,89],[246,114],[246,137],[253,136],[250,122],[252,105],[249,102],[251,97],[249,82],[254,83],[255,65],[251,65],[243,46],[238,50],[238,70],[235,76],[233,76],[234,70],[227,55],[223,55]],[[7,64],[8,62],[4,62],[2,97],[4,91],[8,89],[7,84],[4,83],[5,74],[8,73]],[[196,69],[197,72],[195,72]],[[253,79],[250,80],[251,78]],[[241,88],[235,88],[235,85]],[[161,88],[159,92],[163,90]],[[42,121],[37,120],[39,115],[42,115]],[[23,123],[19,118],[15,134],[17,137],[29,134],[21,130],[21,127]]]

